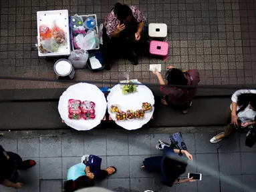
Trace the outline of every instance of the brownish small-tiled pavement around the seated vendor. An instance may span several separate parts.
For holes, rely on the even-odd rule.
[[[55,78],[53,60],[39,59],[31,51],[36,43],[36,12],[68,9],[96,13],[104,21],[116,0],[1,0],[0,75]],[[156,83],[150,63],[182,69],[197,68],[202,85],[256,83],[256,25],[253,0],[121,0],[140,7],[148,23],[166,23],[170,57],[168,61],[140,59],[132,66],[121,59],[111,71],[92,73],[78,70],[76,79],[117,81],[125,77]],[[32,49],[33,50],[33,49]],[[29,81],[0,81],[0,89],[68,87],[70,84]],[[105,84],[104,84],[105,85]]]

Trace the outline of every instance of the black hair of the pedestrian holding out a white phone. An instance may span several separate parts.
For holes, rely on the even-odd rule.
[[[185,173],[186,166],[188,164],[185,161],[177,161],[172,158],[166,157],[164,159],[164,172],[166,177],[176,180],[180,175]]]

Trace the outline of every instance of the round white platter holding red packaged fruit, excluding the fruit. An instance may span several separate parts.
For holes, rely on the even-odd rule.
[[[69,99],[79,99],[81,101],[94,101],[96,103],[95,107],[95,119],[69,119],[68,118],[68,100]],[[78,131],[87,131],[93,129],[100,124],[100,121],[105,116],[107,102],[104,93],[100,91],[96,85],[89,83],[78,83],[68,87],[66,91],[62,93],[59,97],[59,115],[61,119],[70,127]]]

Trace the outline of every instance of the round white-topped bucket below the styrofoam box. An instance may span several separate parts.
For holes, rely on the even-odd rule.
[[[75,76],[75,69],[67,59],[57,60],[53,69],[57,75],[57,79],[73,79]]]

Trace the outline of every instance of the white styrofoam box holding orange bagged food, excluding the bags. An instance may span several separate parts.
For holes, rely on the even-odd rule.
[[[37,11],[37,43],[38,45],[40,45],[40,25],[47,25],[49,28],[51,28],[51,26],[53,25],[53,21],[56,22],[57,26],[60,29],[63,29],[63,31],[65,31],[67,43],[65,46],[59,46],[59,49],[56,53],[40,53],[40,51],[38,50],[39,57],[70,55],[70,31],[68,21],[68,10]]]

